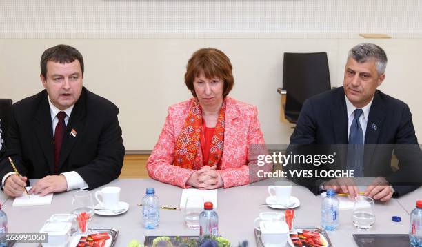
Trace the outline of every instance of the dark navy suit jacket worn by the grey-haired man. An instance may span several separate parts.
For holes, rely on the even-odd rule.
[[[320,147],[326,144],[348,144],[348,116],[343,87],[305,101],[290,137],[290,146],[294,146],[292,144],[316,144]],[[340,145],[335,149],[338,151],[336,167],[344,169],[347,146]],[[391,168],[393,150],[399,159],[400,169],[396,172]],[[403,195],[419,187],[421,162],[421,151],[409,107],[376,90],[365,132],[365,177],[385,177],[394,185],[395,195]],[[306,181],[304,185],[316,194],[322,181],[314,179],[313,184]]]

